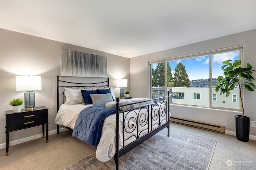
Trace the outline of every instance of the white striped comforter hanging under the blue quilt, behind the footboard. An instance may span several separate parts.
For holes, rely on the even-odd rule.
[[[128,99],[127,99],[128,100]],[[111,103],[112,104],[112,103]],[[56,119],[55,119],[55,123],[58,125],[62,125],[65,127],[70,127],[72,129],[74,129],[74,125],[76,123],[76,119],[80,113],[80,111],[82,111],[82,109],[89,107],[91,105],[84,105],[84,104],[79,104],[79,105],[66,105],[66,104],[62,104],[59,108],[59,111],[56,115]],[[154,113],[154,109],[156,109],[155,107],[153,108],[153,113]],[[150,109],[151,110],[151,109]],[[137,110],[138,111],[138,110]],[[145,113],[147,113],[147,110],[141,109],[140,113],[139,113],[139,117],[141,117],[141,121],[140,123],[143,125],[142,127],[136,127],[135,130],[134,128],[132,128],[132,133],[127,133],[125,132],[125,138],[128,139],[124,142],[125,146],[127,144],[129,144],[130,142],[136,140],[136,134],[137,131],[139,131],[140,136],[143,136],[144,134],[147,133],[148,129],[148,124],[143,123],[142,120],[147,120]],[[137,117],[135,115],[135,112],[125,112],[124,115],[127,115],[128,117]],[[153,116],[154,117],[154,116]],[[161,117],[161,121],[166,119],[166,117]],[[119,149],[122,148],[123,146],[123,141],[122,141],[122,114],[120,114],[119,117]],[[132,123],[136,122],[137,120],[135,118],[133,119],[128,119],[130,122],[125,121],[125,125],[126,125],[126,130],[128,130],[129,132],[129,128],[127,128],[128,125],[132,125]],[[149,119],[150,120],[150,119]],[[158,123],[159,119],[153,121],[152,125],[154,125],[155,123]],[[149,125],[151,126],[151,121],[149,121]],[[158,127],[158,125],[154,125],[152,127],[152,130],[154,128]],[[130,129],[131,130],[131,129]],[[133,136],[134,135],[134,136]],[[115,147],[115,143],[116,143],[116,114],[110,115],[108,116],[103,123],[103,127],[102,127],[102,136],[100,138],[100,142],[97,146],[97,150],[96,150],[96,158],[102,162],[106,162],[110,159],[112,159],[112,157],[114,156],[115,152],[116,152],[116,147]]]

